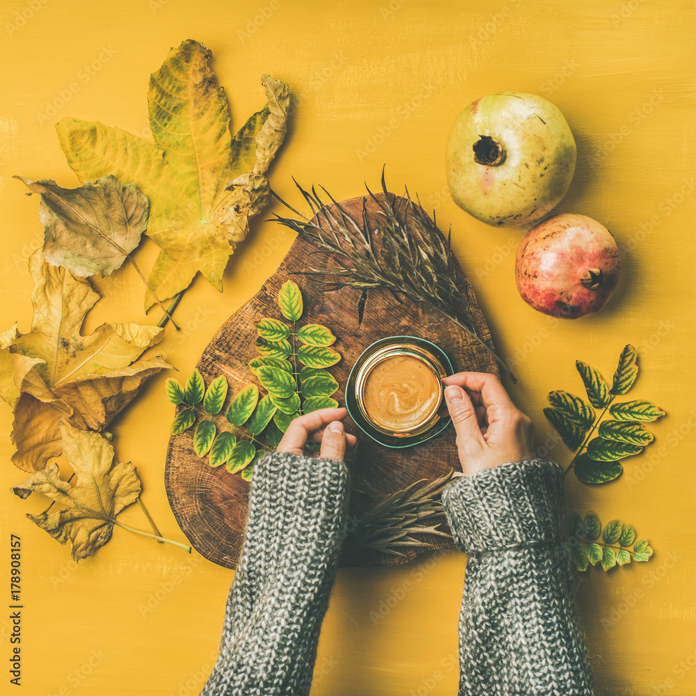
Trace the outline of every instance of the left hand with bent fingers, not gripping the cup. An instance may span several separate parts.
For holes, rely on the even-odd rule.
[[[283,439],[278,443],[278,452],[292,452],[302,456],[303,447],[309,438],[322,443],[319,457],[322,459],[343,459],[346,448],[355,447],[358,442],[346,434],[342,420],[348,415],[346,409],[319,409],[295,418],[287,426]]]

